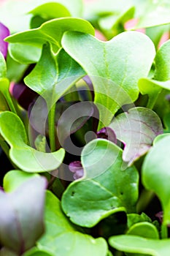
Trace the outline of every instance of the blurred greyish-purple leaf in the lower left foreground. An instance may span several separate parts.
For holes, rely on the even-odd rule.
[[[45,178],[36,177],[15,192],[0,191],[0,242],[18,255],[34,246],[44,232],[45,187]]]

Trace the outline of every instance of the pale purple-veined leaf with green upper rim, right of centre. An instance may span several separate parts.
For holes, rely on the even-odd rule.
[[[125,144],[123,160],[131,165],[145,154],[157,135],[163,133],[158,115],[148,108],[131,108],[113,119],[110,127]]]

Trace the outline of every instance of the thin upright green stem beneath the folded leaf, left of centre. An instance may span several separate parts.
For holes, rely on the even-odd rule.
[[[50,149],[55,151],[55,104],[50,108],[48,115]]]

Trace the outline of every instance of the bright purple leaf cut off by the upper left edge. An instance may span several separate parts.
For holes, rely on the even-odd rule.
[[[9,29],[4,24],[0,23],[0,51],[4,55],[4,58],[7,57],[7,48],[8,42],[4,42],[4,38],[8,37],[10,34]]]

